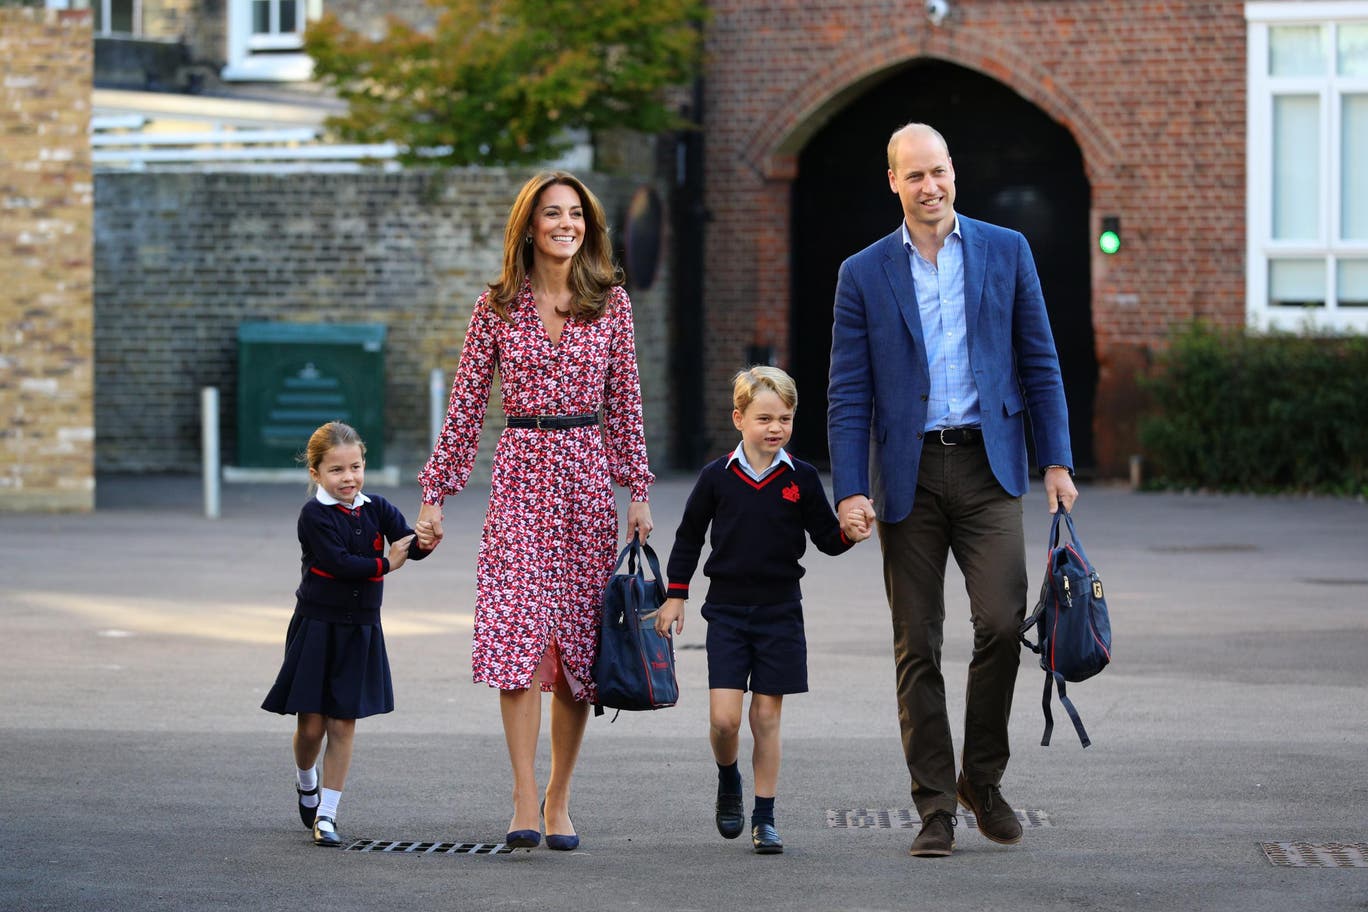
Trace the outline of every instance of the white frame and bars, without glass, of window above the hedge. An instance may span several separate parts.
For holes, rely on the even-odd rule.
[[[1337,306],[1338,257],[1368,256],[1368,241],[1341,239],[1341,96],[1368,93],[1368,77],[1341,77],[1335,44],[1321,77],[1271,77],[1268,30],[1285,25],[1361,25],[1368,22],[1368,0],[1252,0],[1245,4],[1246,146],[1245,146],[1245,310],[1254,330],[1293,332],[1368,332],[1368,308]],[[1280,94],[1315,94],[1320,100],[1320,237],[1316,241],[1272,238],[1272,111]],[[1361,167],[1361,165],[1360,165]],[[1326,265],[1323,308],[1276,308],[1268,304],[1268,264],[1275,258],[1320,260]]]

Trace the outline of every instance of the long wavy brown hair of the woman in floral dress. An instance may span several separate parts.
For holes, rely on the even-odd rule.
[[[503,227],[503,272],[490,283],[490,309],[510,323],[509,305],[523,293],[523,282],[532,268],[534,245],[527,242],[542,191],[565,185],[580,194],[584,211],[584,242],[570,261],[570,313],[576,320],[598,320],[607,308],[609,290],[622,284],[622,269],[613,263],[613,245],[607,237],[607,219],[598,197],[584,182],[568,171],[543,171],[528,179],[513,200]]]

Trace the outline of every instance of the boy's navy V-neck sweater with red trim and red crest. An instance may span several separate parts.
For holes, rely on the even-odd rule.
[[[799,558],[807,550],[807,536],[826,554],[843,554],[854,543],[841,533],[811,465],[793,459],[792,469],[780,464],[763,481],[755,481],[739,465],[728,465],[731,458],[728,454],[703,466],[684,505],[666,572],[669,596],[688,598],[711,525],[713,554],[703,565],[709,602],[795,602],[802,598]]]

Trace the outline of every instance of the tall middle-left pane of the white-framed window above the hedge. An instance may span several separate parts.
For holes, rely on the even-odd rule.
[[[1320,98],[1274,98],[1274,238],[1320,237]]]

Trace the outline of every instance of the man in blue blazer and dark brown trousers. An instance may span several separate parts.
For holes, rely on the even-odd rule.
[[[930,126],[889,138],[888,183],[904,219],[841,264],[826,420],[843,525],[878,520],[903,752],[922,818],[911,855],[933,857],[955,848],[956,800],[988,838],[1022,838],[999,786],[1026,614],[1027,413],[1049,511],[1071,509],[1078,491],[1026,238],[955,212],[955,168]],[[940,667],[951,552],[974,623],[958,777]]]

